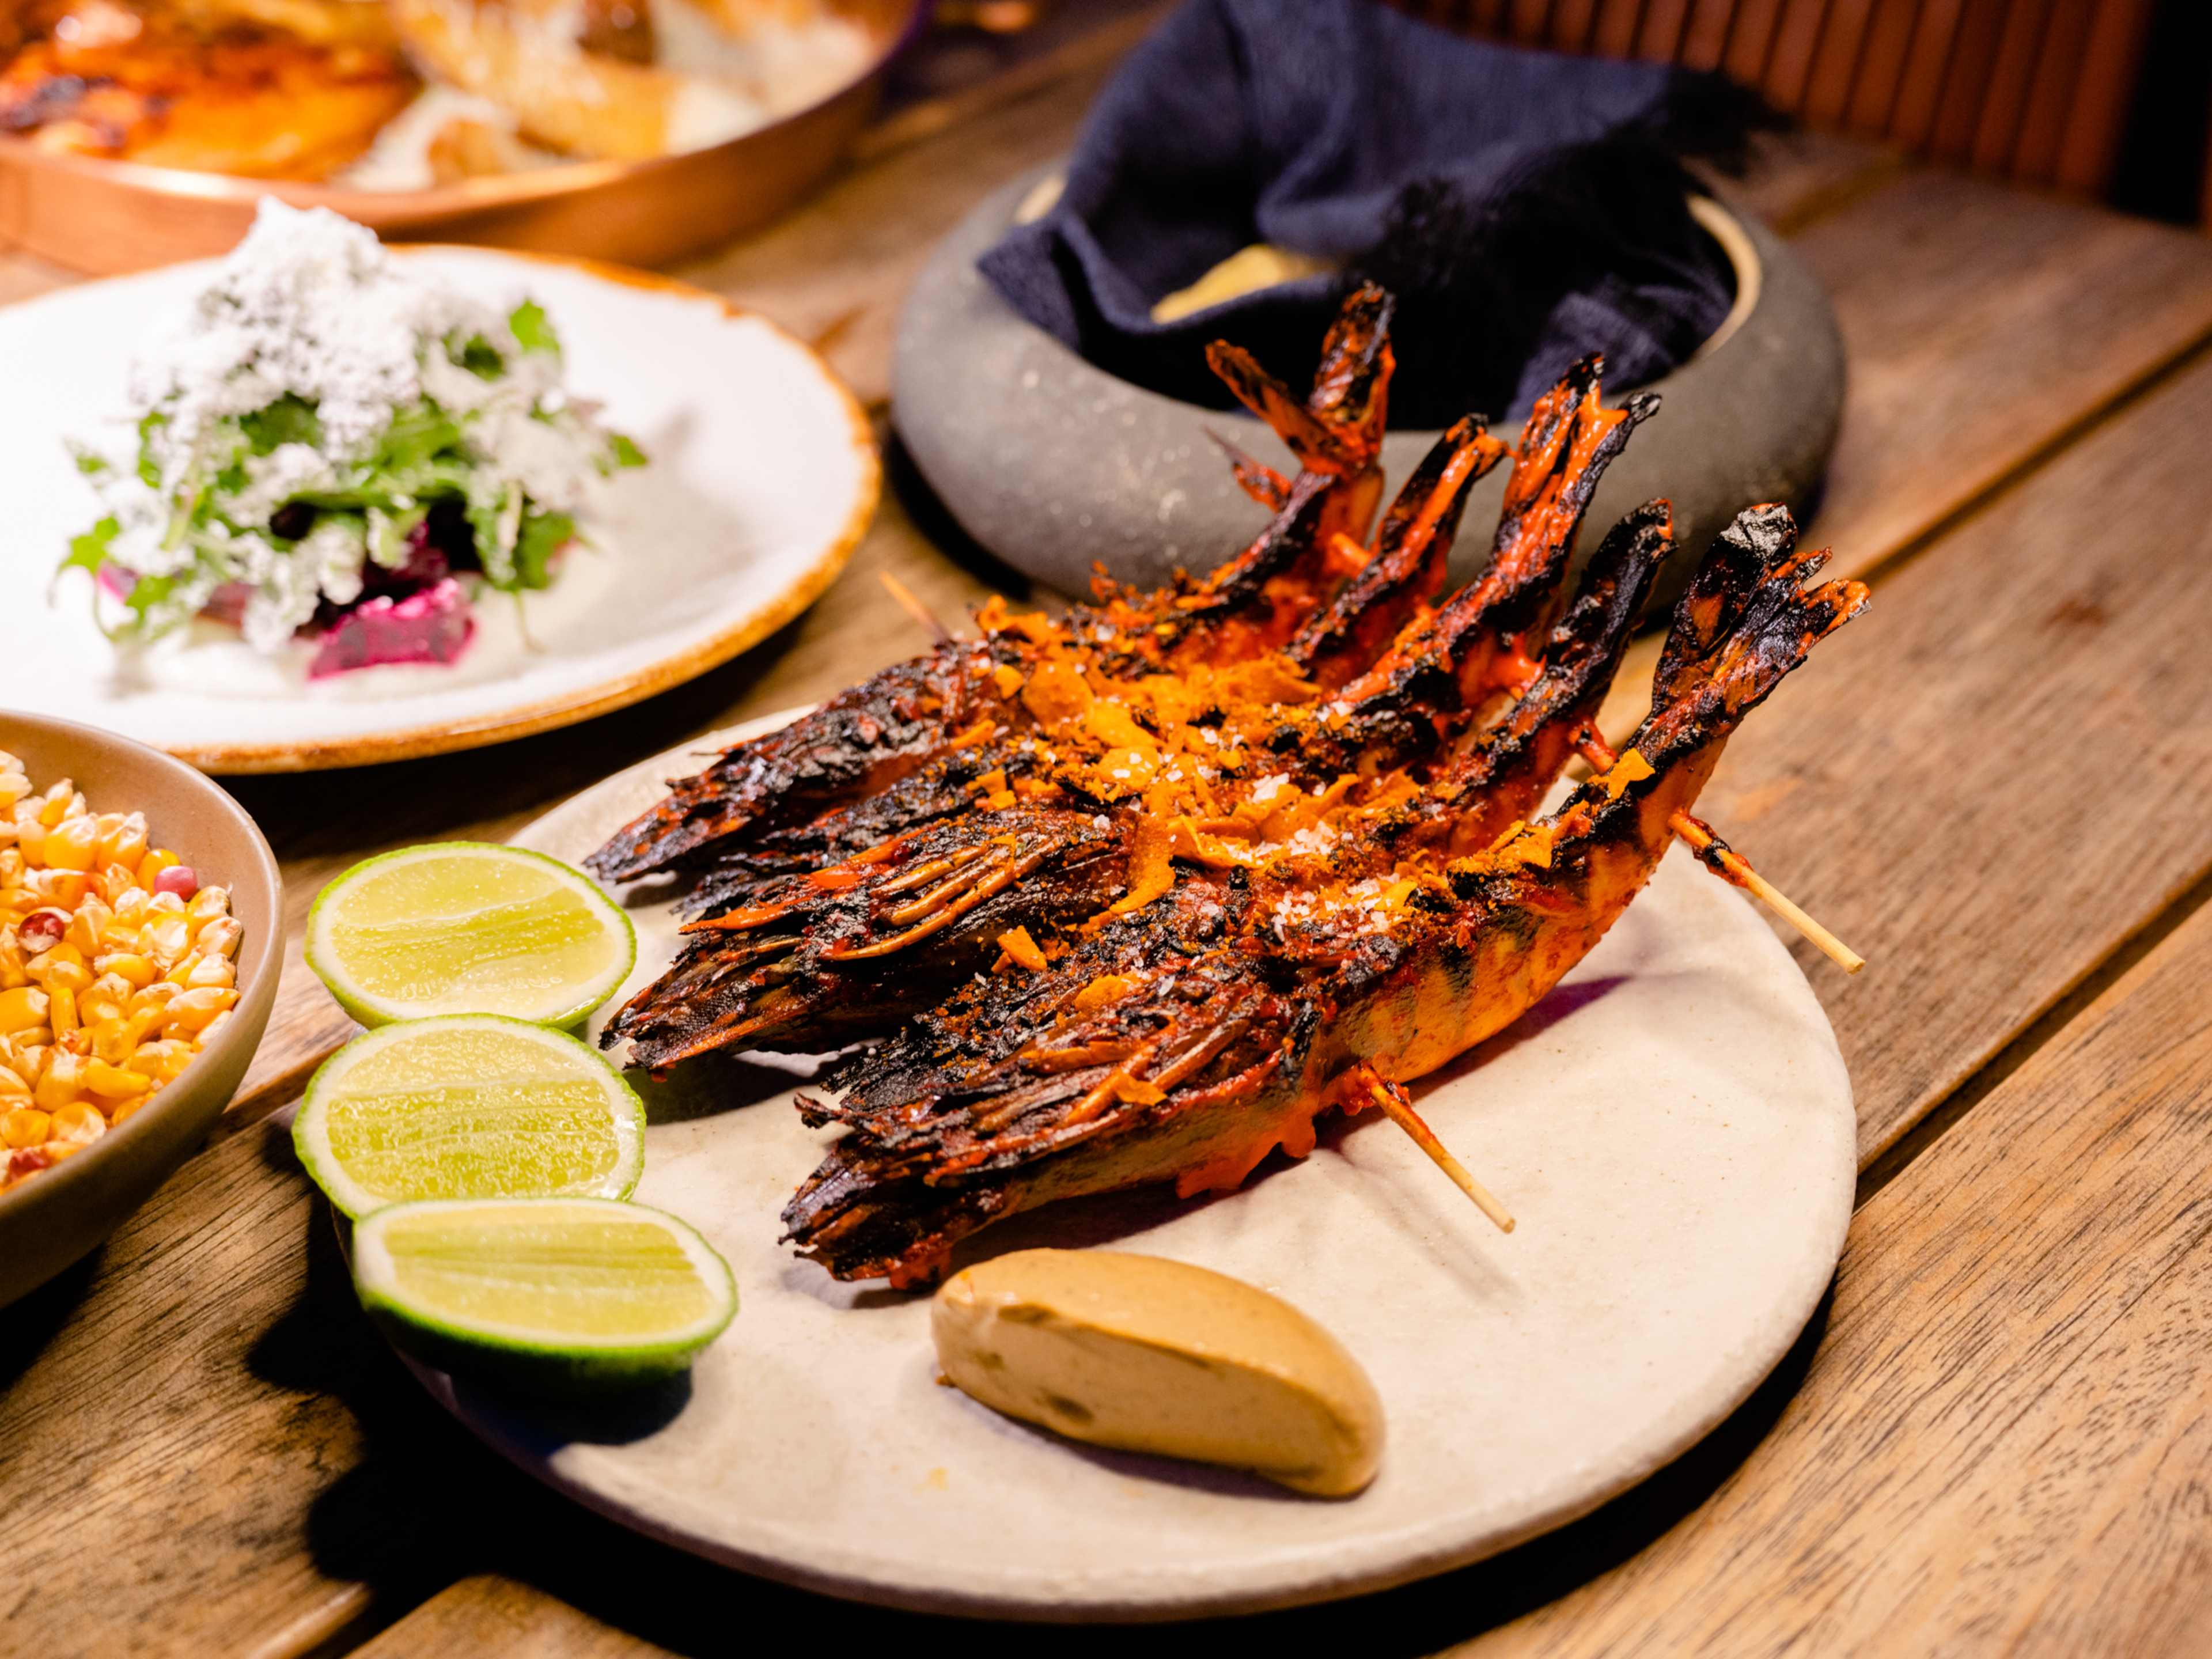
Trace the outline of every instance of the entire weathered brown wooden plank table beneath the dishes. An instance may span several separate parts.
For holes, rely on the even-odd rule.
[[[1062,9],[1073,11],[1073,9]],[[883,407],[900,292],[1068,144],[1141,15],[936,84],[783,226],[692,274]],[[1710,1440],[1506,1557],[1146,1637],[1358,1652],[2212,1650],[2212,243],[1796,142],[1739,197],[1827,281],[1851,403],[1814,524],[1874,611],[1730,748],[1710,816],[1874,967],[1798,947],[1858,1091],[1834,1292]],[[0,261],[0,294],[60,281]],[[502,836],[706,728],[818,697],[1013,586],[900,476],[765,648],[500,750],[241,781],[285,858],[288,980],[215,1141],[0,1321],[0,1650],[646,1655],[1009,1628],[759,1584],[560,1502],[358,1316],[268,1121],[347,1026],[299,967],[332,872]],[[1053,1644],[1121,1650],[1126,1635]]]

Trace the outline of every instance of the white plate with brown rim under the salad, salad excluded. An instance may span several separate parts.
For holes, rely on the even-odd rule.
[[[462,248],[411,252],[493,303],[535,296],[568,387],[606,405],[653,465],[622,473],[597,551],[529,595],[500,595],[451,668],[307,681],[234,633],[195,626],[124,661],[91,584],[53,568],[100,518],[62,440],[102,438],[146,325],[208,265],[86,283],[0,310],[0,703],[106,726],[210,772],[361,765],[566,726],[706,672],[790,622],[843,568],[876,511],[867,416],[823,361],[712,294],[613,265]],[[526,637],[524,637],[526,628]]]

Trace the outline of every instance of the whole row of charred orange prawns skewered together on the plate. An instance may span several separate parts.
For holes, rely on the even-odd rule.
[[[1077,1192],[1237,1186],[1520,1018],[1657,867],[1736,721],[1865,588],[1807,588],[1781,509],[1692,577],[1652,712],[1557,812],[1666,502],[1566,571],[1606,465],[1657,407],[1577,363],[1533,409],[1491,560],[1438,597],[1469,487],[1458,422],[1380,518],[1389,301],[1356,292],[1307,398],[1212,363],[1298,458],[1232,458],[1274,509],[1203,582],[993,602],[949,641],[739,745],[593,858],[692,876],[686,945],[604,1033],[633,1064],[834,1051],[843,1139],[785,1210],[843,1279],[914,1283],[975,1228]],[[1416,1020],[1416,1009],[1420,1018]]]

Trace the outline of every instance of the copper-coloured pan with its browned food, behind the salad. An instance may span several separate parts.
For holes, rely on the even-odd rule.
[[[0,18],[0,241],[148,270],[228,250],[274,192],[396,241],[661,265],[799,201],[927,11],[31,0]]]

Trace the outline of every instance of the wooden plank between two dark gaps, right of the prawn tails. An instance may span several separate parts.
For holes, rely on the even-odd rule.
[[[1794,945],[1863,1157],[2212,872],[2208,420],[2199,363],[1878,580],[1705,792],[1874,960],[1840,984]]]

